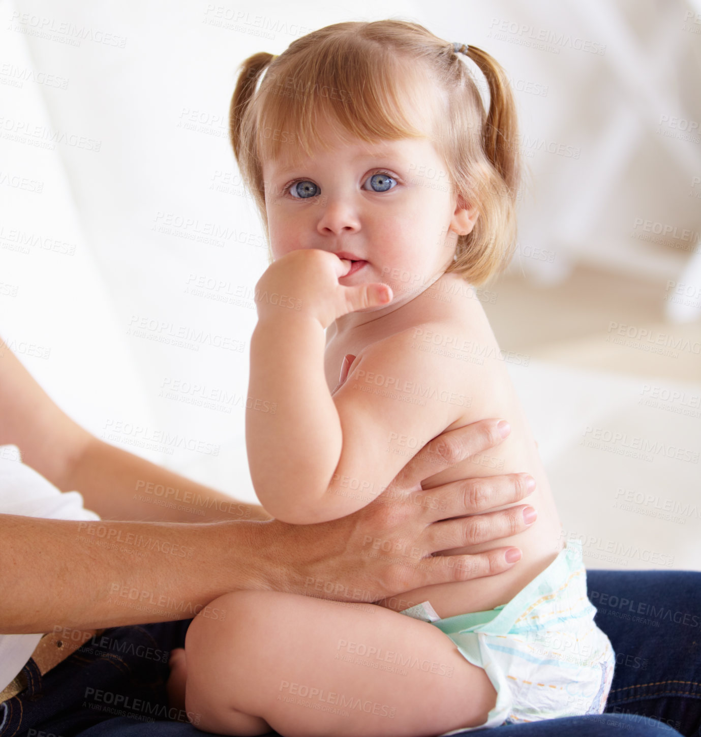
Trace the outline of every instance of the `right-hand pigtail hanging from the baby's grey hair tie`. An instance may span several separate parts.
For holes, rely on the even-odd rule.
[[[470,46],[467,56],[475,62],[489,85],[489,112],[482,130],[484,153],[501,174],[509,193],[516,196],[520,180],[516,103],[503,67],[489,54]]]

